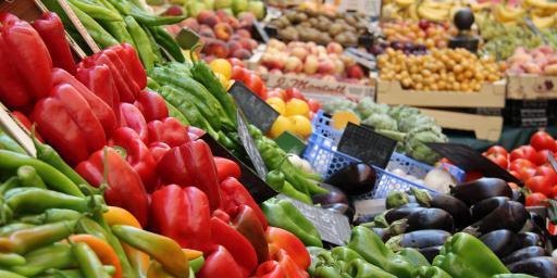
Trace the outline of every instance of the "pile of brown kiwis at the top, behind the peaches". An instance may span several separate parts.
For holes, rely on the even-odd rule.
[[[358,38],[368,31],[362,15],[347,13],[326,13],[313,10],[287,10],[269,26],[277,29],[277,38],[283,41],[313,41],[327,45],[335,41],[343,46],[358,45]]]

